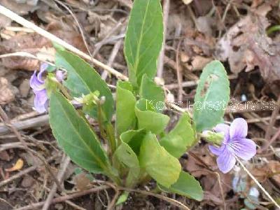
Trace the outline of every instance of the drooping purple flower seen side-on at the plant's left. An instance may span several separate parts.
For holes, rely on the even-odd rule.
[[[48,64],[41,64],[38,75],[36,71],[34,71],[30,78],[30,87],[35,94],[34,109],[38,111],[38,113],[44,113],[48,109],[48,94],[47,90],[45,90],[45,80],[43,79],[43,73],[47,68]],[[60,82],[64,79],[65,74],[63,71],[57,71],[55,77]]]

